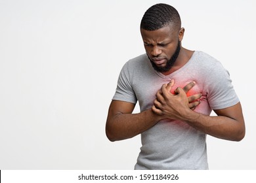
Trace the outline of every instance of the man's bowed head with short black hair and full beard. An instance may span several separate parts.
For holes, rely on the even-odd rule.
[[[148,8],[141,20],[140,32],[154,69],[161,73],[169,71],[179,56],[184,34],[179,12],[166,4]]]

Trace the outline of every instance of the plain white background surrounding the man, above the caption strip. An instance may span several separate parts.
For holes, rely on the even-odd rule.
[[[253,0],[0,0],[0,169],[133,169],[140,137],[110,142],[104,128],[156,3],[177,8],[182,46],[219,59],[242,103],[245,139],[208,136],[209,168],[256,169]]]

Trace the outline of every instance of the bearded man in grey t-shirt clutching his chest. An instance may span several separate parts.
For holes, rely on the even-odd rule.
[[[135,169],[208,169],[206,134],[230,141],[245,135],[240,101],[228,71],[211,56],[181,46],[177,10],[157,4],[140,24],[146,54],[129,60],[110,104],[106,135],[141,134]],[[139,114],[132,114],[139,101]],[[217,116],[209,116],[211,110]]]

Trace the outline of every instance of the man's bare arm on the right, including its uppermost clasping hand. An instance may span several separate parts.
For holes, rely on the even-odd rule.
[[[177,93],[173,95],[162,87],[152,110],[163,118],[183,120],[195,129],[220,139],[241,141],[244,138],[245,124],[240,103],[215,110],[218,116],[206,116],[190,110],[186,93],[181,88],[177,88]]]

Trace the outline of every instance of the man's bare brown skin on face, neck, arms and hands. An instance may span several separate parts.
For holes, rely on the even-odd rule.
[[[178,29],[167,25],[156,31],[140,30],[146,54],[158,65],[164,67],[173,56],[178,41],[182,41],[184,28]],[[182,48],[169,75],[188,62],[193,52]],[[132,114],[135,104],[123,101],[112,101],[106,122],[106,135],[110,141],[119,141],[139,135],[160,120],[165,118],[182,120],[195,129],[213,137],[230,141],[241,141],[245,135],[244,117],[240,103],[219,110],[214,110],[217,116],[205,116],[193,109],[199,105],[201,94],[186,97],[186,92],[196,83],[190,82],[184,88],[177,88],[175,94],[169,92],[175,81],[163,84],[156,93],[154,106],[138,114]]]

